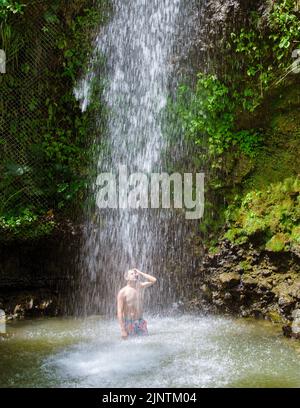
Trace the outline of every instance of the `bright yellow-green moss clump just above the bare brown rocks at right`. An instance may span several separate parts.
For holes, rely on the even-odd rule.
[[[266,249],[275,252],[283,251],[289,244],[299,245],[299,194],[298,177],[247,193],[231,207],[230,228],[225,237],[237,243],[241,238],[260,235]]]

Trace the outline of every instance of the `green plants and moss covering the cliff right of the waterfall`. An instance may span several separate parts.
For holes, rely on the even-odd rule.
[[[295,2],[270,2],[228,35],[226,70],[179,88],[175,109],[209,174],[201,229],[211,244],[226,225],[236,243],[261,233],[268,249],[299,248],[299,42]]]

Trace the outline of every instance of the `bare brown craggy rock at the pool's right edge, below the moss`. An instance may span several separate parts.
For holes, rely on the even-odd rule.
[[[295,253],[259,251],[224,240],[207,255],[193,279],[189,309],[262,317],[300,338],[300,258]]]

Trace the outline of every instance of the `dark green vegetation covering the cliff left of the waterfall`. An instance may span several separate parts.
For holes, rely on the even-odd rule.
[[[2,240],[48,234],[82,205],[96,147],[91,117],[101,102],[94,98],[82,113],[73,89],[88,65],[95,29],[109,13],[108,1],[97,4],[1,1],[0,48],[7,54],[0,76]]]

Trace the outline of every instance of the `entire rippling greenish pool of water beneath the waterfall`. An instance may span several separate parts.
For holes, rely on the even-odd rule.
[[[300,387],[300,348],[265,321],[149,317],[150,335],[120,339],[117,321],[7,324],[0,387]]]

